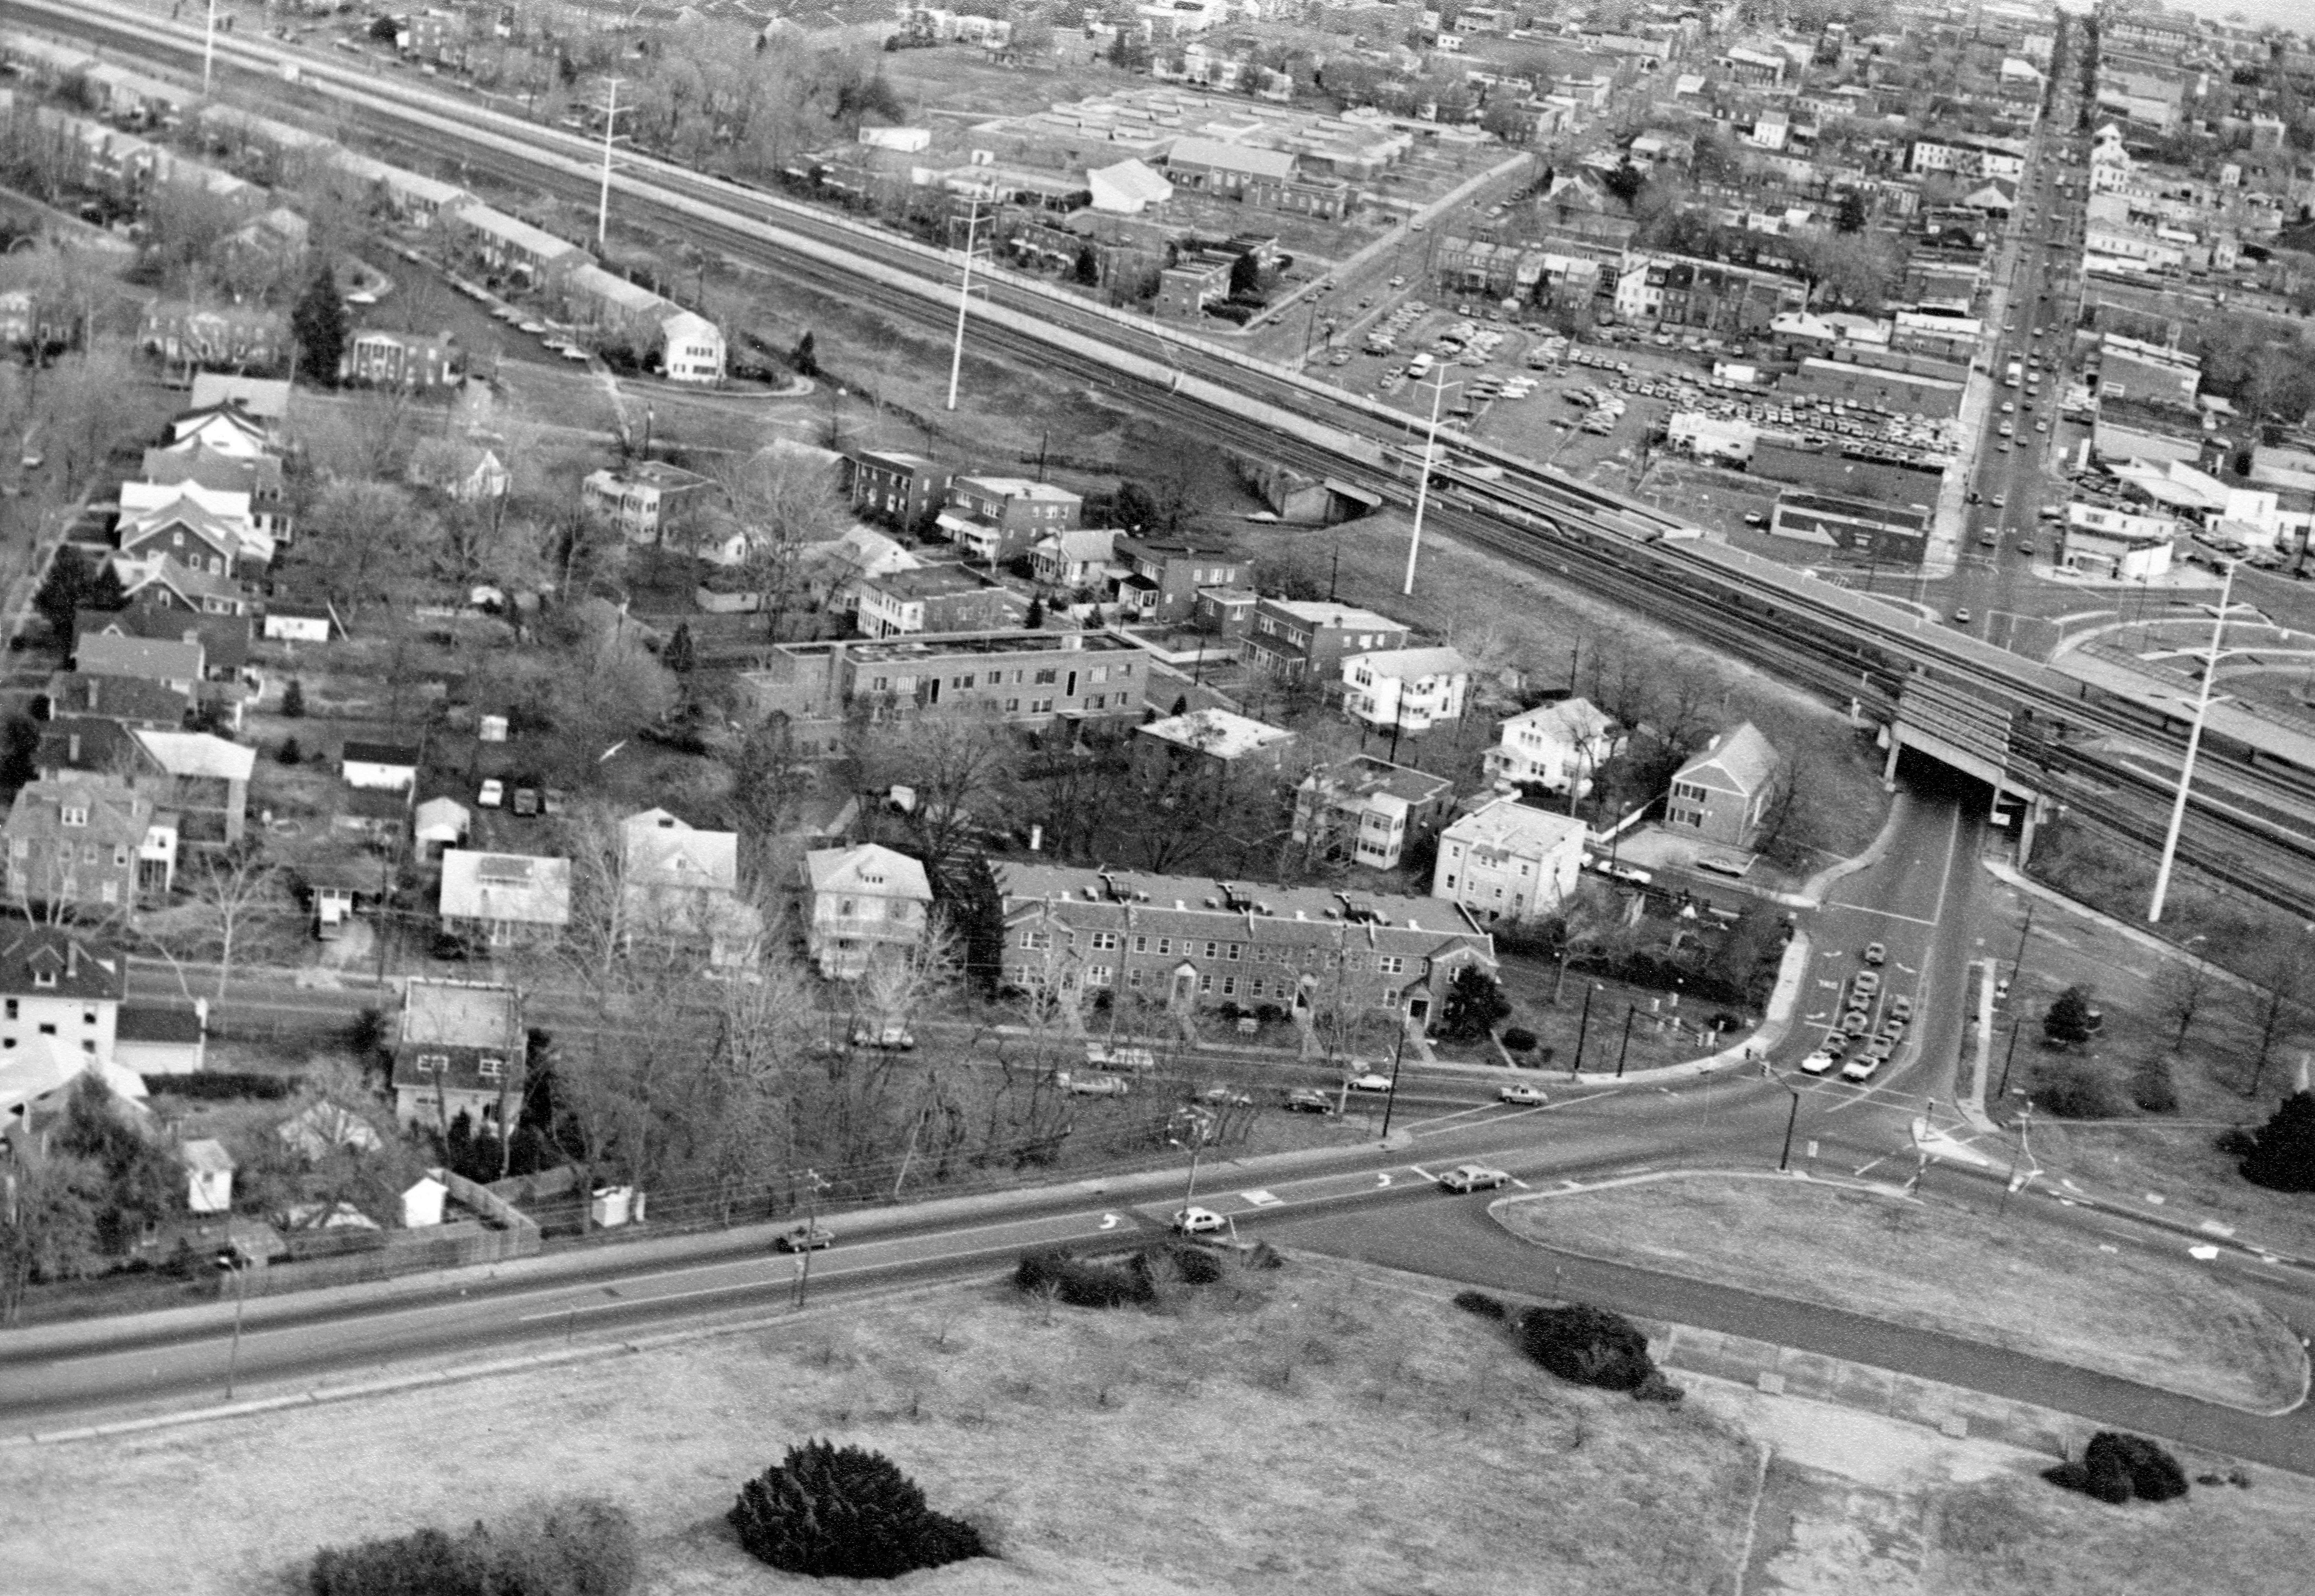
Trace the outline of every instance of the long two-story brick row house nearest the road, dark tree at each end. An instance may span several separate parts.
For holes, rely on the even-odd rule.
[[[1495,944],[1433,897],[1000,865],[1007,985],[1076,1002],[1134,992],[1176,1013],[1276,1004],[1428,1029]]]

